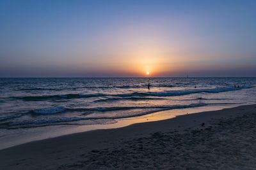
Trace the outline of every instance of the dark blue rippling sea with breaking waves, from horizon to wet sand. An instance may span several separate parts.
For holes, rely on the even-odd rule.
[[[256,78],[1,78],[0,87],[5,131],[256,101]]]

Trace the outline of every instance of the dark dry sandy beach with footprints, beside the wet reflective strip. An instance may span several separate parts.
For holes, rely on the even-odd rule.
[[[0,169],[256,169],[256,104],[0,150]]]

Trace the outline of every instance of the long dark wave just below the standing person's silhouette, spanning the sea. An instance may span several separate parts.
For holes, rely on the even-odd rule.
[[[188,89],[188,90],[168,90],[163,92],[132,92],[127,94],[61,94],[52,96],[21,96],[14,97],[16,99],[22,99],[24,101],[44,101],[44,100],[58,100],[58,99],[76,99],[76,98],[90,98],[90,97],[104,97],[104,96],[115,96],[115,97],[168,97],[168,96],[184,96],[188,94],[199,94],[199,93],[220,93],[234,90],[248,89],[250,87],[221,87],[215,89]]]

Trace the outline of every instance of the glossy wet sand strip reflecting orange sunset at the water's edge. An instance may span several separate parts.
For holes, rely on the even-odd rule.
[[[40,141],[44,139],[58,138],[60,136],[66,136],[70,134],[76,134],[81,132],[95,131],[101,129],[116,129],[126,127],[132,124],[140,124],[145,122],[155,122],[175,118],[180,115],[200,113],[203,111],[216,111],[225,108],[233,108],[236,106],[243,106],[241,104],[223,104],[215,106],[201,106],[195,108],[183,108],[173,109],[166,111],[157,111],[147,115],[141,115],[129,118],[114,119],[113,124],[93,124],[93,125],[49,125],[45,127],[35,127],[28,129],[10,129],[7,132],[12,131],[12,134],[8,136],[1,136],[0,150],[10,148],[13,146],[23,145],[33,141]]]

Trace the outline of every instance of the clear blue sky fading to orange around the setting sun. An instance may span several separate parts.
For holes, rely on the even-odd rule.
[[[1,0],[0,77],[255,76],[256,1]]]

